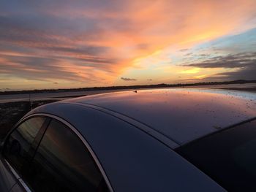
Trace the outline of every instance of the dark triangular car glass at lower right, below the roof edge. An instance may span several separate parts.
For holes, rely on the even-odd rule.
[[[256,120],[176,150],[227,191],[256,191]]]

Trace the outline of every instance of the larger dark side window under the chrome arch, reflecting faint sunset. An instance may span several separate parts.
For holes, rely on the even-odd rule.
[[[50,121],[26,181],[33,191],[108,191],[89,150],[59,120]]]

